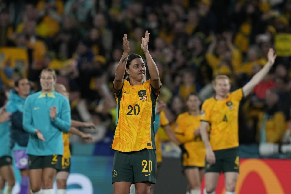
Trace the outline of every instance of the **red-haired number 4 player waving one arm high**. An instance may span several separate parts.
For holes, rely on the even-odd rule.
[[[214,193],[220,172],[224,173],[226,194],[234,194],[239,175],[238,109],[243,96],[249,95],[271,69],[276,54],[269,49],[268,62],[243,88],[229,93],[229,78],[218,75],[214,79],[215,97],[202,105],[200,133],[206,148],[204,193]],[[210,142],[207,127],[211,125]]]

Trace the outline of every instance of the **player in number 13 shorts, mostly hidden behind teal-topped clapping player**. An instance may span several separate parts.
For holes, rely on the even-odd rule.
[[[62,84],[55,84],[55,91],[59,92],[63,96],[65,96],[67,99],[69,99],[69,92],[67,92],[67,89]],[[87,122],[80,122],[71,120],[72,127],[70,128],[70,133],[79,135],[83,139],[89,140],[89,142],[92,142],[92,135],[83,133],[82,131],[79,131],[75,127],[95,127],[93,123],[87,123]],[[59,169],[57,172],[57,194],[66,194],[67,189],[67,180],[70,174],[70,168],[71,168],[71,151],[70,151],[70,142],[69,142],[69,133],[63,132],[63,142],[64,142],[64,154],[62,156],[62,168]]]

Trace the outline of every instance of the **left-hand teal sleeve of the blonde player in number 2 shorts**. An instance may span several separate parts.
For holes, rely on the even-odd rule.
[[[22,120],[23,129],[29,133],[35,133],[35,127],[32,126],[32,112],[31,112],[31,98],[29,96],[24,103],[23,111],[23,120]]]

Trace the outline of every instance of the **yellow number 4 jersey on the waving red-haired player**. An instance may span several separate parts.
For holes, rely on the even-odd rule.
[[[209,139],[213,150],[239,146],[238,114],[242,98],[243,90],[240,88],[229,93],[224,100],[212,97],[203,103],[201,121],[209,122]]]

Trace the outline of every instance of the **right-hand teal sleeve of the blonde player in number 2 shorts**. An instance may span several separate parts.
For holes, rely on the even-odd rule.
[[[69,100],[64,99],[60,116],[51,119],[52,123],[64,132],[68,132],[71,127],[71,109]]]

